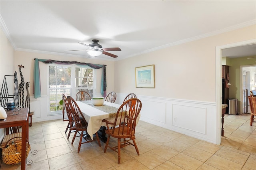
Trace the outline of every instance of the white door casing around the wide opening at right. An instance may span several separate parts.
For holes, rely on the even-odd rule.
[[[216,46],[216,144],[221,144],[221,104],[222,104],[222,100],[221,100],[221,94],[222,94],[222,73],[221,73],[221,59],[222,59],[222,55],[221,55],[221,50],[225,49],[225,48],[231,48],[231,47],[238,47],[241,45],[250,45],[250,44],[254,44],[256,43],[256,39],[252,39],[252,40],[247,40],[247,41],[243,41],[243,42],[236,42],[236,43],[230,43],[230,44],[226,44],[226,45],[220,45],[220,46]],[[240,74],[241,75],[241,74]],[[240,76],[240,82],[241,82],[241,76]]]

